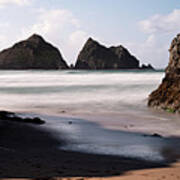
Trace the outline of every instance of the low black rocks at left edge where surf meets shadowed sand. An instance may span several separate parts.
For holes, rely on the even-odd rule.
[[[31,124],[44,124],[45,121],[35,117],[35,118],[22,118],[17,116],[13,112],[8,112],[8,111],[0,111],[0,120],[3,121],[13,121],[13,122],[23,122],[23,123],[31,123]]]

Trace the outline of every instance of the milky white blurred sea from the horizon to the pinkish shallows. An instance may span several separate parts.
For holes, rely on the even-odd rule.
[[[163,72],[0,71],[0,107],[16,111],[141,111]]]

